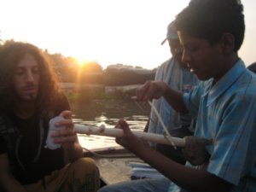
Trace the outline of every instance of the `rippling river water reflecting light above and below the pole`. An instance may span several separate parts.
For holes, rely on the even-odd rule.
[[[132,100],[93,100],[88,103],[71,103],[73,121],[82,125],[106,125],[113,128],[119,119],[125,119],[133,130],[143,131],[148,121],[150,108],[139,108]],[[79,135],[84,148],[106,148],[117,146],[113,137]]]

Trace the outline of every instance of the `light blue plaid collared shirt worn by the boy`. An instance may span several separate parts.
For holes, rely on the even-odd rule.
[[[197,118],[195,136],[211,139],[204,167],[234,184],[230,191],[256,191],[256,75],[238,61],[216,84],[207,80],[184,94]],[[174,183],[169,192],[181,191]]]

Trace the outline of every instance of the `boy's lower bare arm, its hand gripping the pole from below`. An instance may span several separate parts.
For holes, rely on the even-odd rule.
[[[198,170],[187,167],[170,160],[158,153],[148,145],[135,137],[124,120],[119,120],[119,127],[124,130],[124,137],[119,137],[116,142],[137,154],[142,160],[156,168],[159,172],[168,177],[182,189],[189,192],[215,192],[229,191],[232,184],[212,175],[205,170]]]

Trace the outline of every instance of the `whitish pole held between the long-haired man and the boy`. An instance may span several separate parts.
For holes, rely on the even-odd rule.
[[[107,136],[107,137],[123,137],[124,133],[121,129],[113,129],[113,128],[106,128],[104,125],[97,126],[88,126],[88,125],[74,125],[74,131],[80,134],[87,134],[87,135],[98,135],[98,136]],[[132,131],[132,133],[147,142],[152,143],[161,143],[161,144],[167,144],[167,145],[174,145],[177,147],[184,147],[185,146],[185,140],[183,138],[178,137],[171,137],[171,141],[173,143],[170,143],[170,139],[168,140],[166,136],[160,135],[160,134],[154,134],[154,133],[148,133],[143,131]]]

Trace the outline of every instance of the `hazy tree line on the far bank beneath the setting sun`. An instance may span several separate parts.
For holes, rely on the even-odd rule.
[[[0,47],[8,44],[13,39],[2,41],[0,36]],[[143,69],[142,67],[131,67],[123,64],[115,64],[102,69],[96,61],[79,64],[75,57],[64,56],[60,53],[50,54],[47,49],[42,49],[44,55],[49,58],[55,73],[61,82],[84,83],[84,84],[105,84],[105,85],[126,85],[143,84],[149,79],[154,79],[154,70]],[[144,71],[143,73],[138,73]]]

